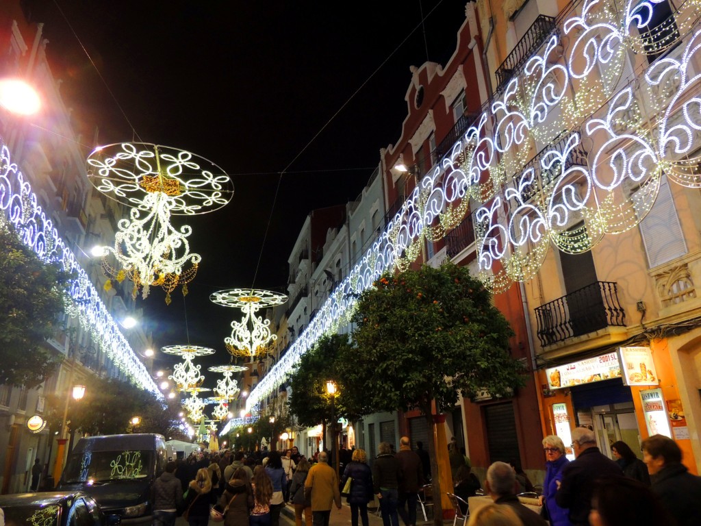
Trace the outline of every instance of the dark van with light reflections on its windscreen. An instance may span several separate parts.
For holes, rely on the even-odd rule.
[[[151,487],[167,461],[162,435],[81,438],[69,452],[57,489],[89,494],[123,525],[151,524]]]

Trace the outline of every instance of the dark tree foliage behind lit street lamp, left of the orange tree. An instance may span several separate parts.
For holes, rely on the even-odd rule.
[[[300,358],[288,377],[292,388],[290,412],[299,425],[311,427],[334,417],[353,421],[361,416],[355,386],[336,370],[339,356],[346,356],[351,349],[347,335],[324,336]],[[328,380],[336,382],[338,388],[333,404],[326,389]]]

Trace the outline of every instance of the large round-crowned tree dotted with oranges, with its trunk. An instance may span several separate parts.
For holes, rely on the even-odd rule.
[[[357,398],[363,414],[418,408],[431,429],[433,403],[440,414],[458,393],[512,396],[524,384],[524,366],[510,356],[508,321],[465,267],[423,265],[374,285],[358,299],[353,349],[335,362],[344,384],[356,386],[346,396]],[[428,445],[438,473],[433,440]],[[441,494],[438,477],[433,491]],[[442,524],[440,499],[435,506]]]

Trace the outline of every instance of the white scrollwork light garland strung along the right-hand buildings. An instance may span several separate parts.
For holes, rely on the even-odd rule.
[[[675,13],[678,33],[655,50],[639,36],[655,0],[587,0],[564,22],[571,42],[565,53],[556,31],[497,100],[483,108],[449,154],[418,182],[400,213],[355,264],[319,313],[247,398],[253,409],[285,381],[316,340],[348,323],[355,300],[383,271],[405,269],[423,238],[436,241],[459,224],[468,199],[475,210],[479,277],[495,291],[531,278],[550,244],[578,253],[604,234],[638,224],[651,209],[660,178],[701,187],[700,73],[695,69],[701,35],[701,1]],[[669,22],[662,29],[673,28]],[[657,33],[662,29],[658,29]],[[676,35],[676,36],[675,36]],[[632,69],[646,53],[667,50],[651,67]],[[581,130],[581,131],[579,131]],[[563,138],[537,165],[524,163],[539,145]],[[590,166],[570,161],[586,142]],[[538,191],[526,198],[529,187]],[[582,221],[584,227],[569,229]]]

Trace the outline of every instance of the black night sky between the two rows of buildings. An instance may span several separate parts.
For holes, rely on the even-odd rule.
[[[231,203],[189,222],[191,250],[203,262],[185,301],[176,290],[165,307],[159,289],[137,302],[156,346],[187,343],[189,332],[191,344],[217,349],[212,363],[229,361],[223,339],[237,311],[211,304],[210,293],[252,285],[286,292],[287,257],[306,215],[358,196],[379,149],[400,137],[409,66],[426,60],[426,47],[445,65],[465,18],[465,0],[27,4],[45,23],[67,106],[100,128],[101,144],[133,138],[186,149],[231,175]]]

